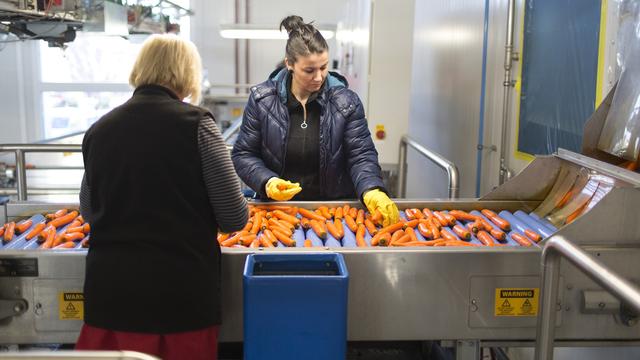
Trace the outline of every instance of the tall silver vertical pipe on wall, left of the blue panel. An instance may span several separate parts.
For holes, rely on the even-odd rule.
[[[502,137],[500,139],[500,184],[505,182],[509,163],[507,161],[507,138],[509,136],[509,99],[511,97],[511,66],[514,60],[513,32],[515,27],[515,0],[509,0],[507,7],[507,39],[504,53],[504,81],[502,96]]]

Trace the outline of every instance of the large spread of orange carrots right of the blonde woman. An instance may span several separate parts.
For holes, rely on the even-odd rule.
[[[311,229],[320,239],[327,234],[340,241],[345,227],[355,234],[358,247],[409,247],[409,246],[480,246],[469,242],[471,234],[485,246],[500,246],[507,242],[511,224],[495,212],[484,209],[482,216],[461,210],[431,211],[406,209],[404,219],[396,224],[381,226],[382,216],[363,209],[344,205],[315,210],[294,206],[262,205],[250,208],[250,218],[242,231],[218,234],[218,242],[224,247],[275,247],[278,242],[287,247],[296,246],[294,231],[302,227]],[[488,219],[488,221],[486,220]],[[419,240],[421,238],[427,239]],[[371,240],[365,241],[366,234]],[[540,234],[527,229],[525,235],[511,232],[509,235],[521,246],[531,246],[542,239]],[[304,240],[311,247],[310,239]]]

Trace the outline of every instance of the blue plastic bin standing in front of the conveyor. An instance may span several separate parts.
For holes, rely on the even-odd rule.
[[[344,359],[342,254],[252,254],[244,266],[244,358]]]

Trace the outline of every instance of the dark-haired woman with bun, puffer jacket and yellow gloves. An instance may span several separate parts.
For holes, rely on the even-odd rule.
[[[329,71],[329,46],[312,23],[288,16],[283,69],[251,88],[232,159],[263,199],[360,199],[383,225],[398,208],[382,183],[378,153],[358,95]]]

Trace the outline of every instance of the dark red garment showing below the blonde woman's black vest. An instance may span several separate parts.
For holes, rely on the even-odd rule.
[[[75,349],[130,350],[164,360],[217,360],[218,330],[219,326],[212,326],[181,333],[146,334],[111,331],[84,324]]]

